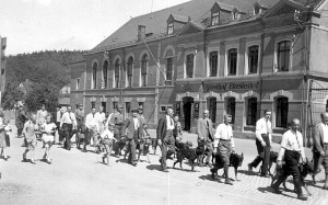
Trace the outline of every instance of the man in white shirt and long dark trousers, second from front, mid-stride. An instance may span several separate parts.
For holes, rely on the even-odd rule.
[[[261,176],[268,176],[268,168],[271,148],[271,111],[266,110],[265,116],[256,122],[256,147],[258,156],[251,163],[248,163],[248,171],[256,168],[262,161]]]

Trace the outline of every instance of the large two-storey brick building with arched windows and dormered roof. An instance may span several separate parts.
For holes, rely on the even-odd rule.
[[[192,0],[131,19],[72,62],[71,102],[143,105],[150,125],[174,107],[191,132],[208,109],[237,135],[270,109],[274,134],[294,117],[308,133],[327,107],[327,0]]]

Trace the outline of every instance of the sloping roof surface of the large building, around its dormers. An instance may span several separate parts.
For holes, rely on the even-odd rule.
[[[209,20],[211,16],[211,9],[215,2],[220,3],[221,7],[226,9],[237,8],[239,11],[245,12],[246,16],[251,16],[254,13],[253,7],[256,2],[263,8],[272,8],[279,1],[284,0],[191,0],[131,19],[112,35],[109,35],[106,39],[95,46],[91,53],[104,52],[137,43],[138,25],[144,25],[145,33],[153,34],[150,36],[150,38],[164,37],[167,35],[167,19],[171,14],[183,22],[186,21],[186,18],[188,16],[192,23],[204,29],[207,26],[207,20]],[[309,2],[309,0],[294,1],[303,5],[307,5]],[[313,1],[315,1],[314,3],[318,3],[321,0]]]

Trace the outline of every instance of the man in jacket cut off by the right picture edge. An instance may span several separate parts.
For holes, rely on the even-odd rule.
[[[328,113],[321,113],[321,122],[315,126],[313,136],[313,159],[314,174],[313,181],[316,183],[315,175],[320,172],[320,166],[325,168],[325,185],[324,190],[328,190]]]

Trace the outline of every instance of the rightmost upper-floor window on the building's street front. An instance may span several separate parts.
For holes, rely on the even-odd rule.
[[[289,71],[290,68],[290,55],[291,55],[291,42],[284,41],[278,44],[278,70]]]

